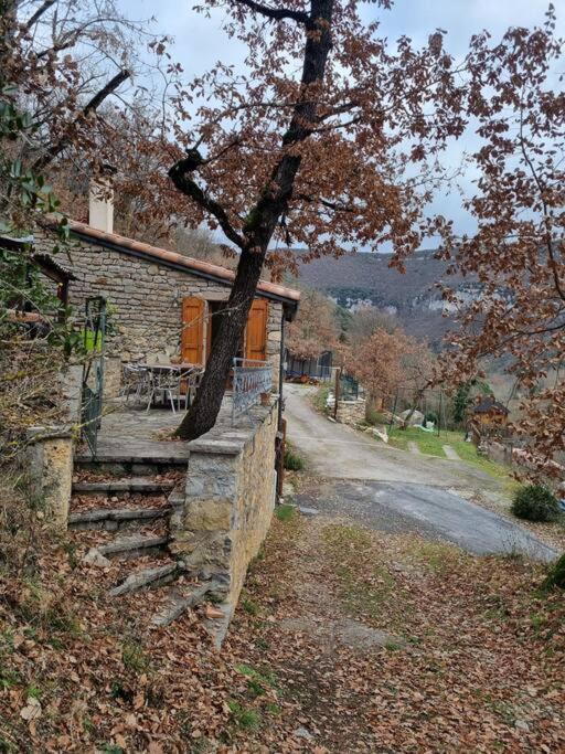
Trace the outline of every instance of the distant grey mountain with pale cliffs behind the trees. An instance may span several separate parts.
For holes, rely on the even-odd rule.
[[[297,251],[297,255],[302,254]],[[454,328],[454,320],[443,316],[446,307],[436,284],[448,279],[467,300],[473,298],[476,287],[461,277],[446,276],[447,263],[435,259],[433,251],[418,252],[407,259],[404,274],[390,267],[391,258],[390,254],[322,257],[300,263],[298,279],[347,309],[373,305],[394,314],[409,334],[427,338],[439,349],[444,334]]]

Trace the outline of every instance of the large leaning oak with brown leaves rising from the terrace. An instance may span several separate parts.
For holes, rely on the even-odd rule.
[[[200,10],[218,7],[226,3],[207,0]],[[179,94],[184,153],[169,172],[196,208],[194,222],[220,227],[239,249],[203,382],[179,428],[188,439],[215,422],[271,242],[306,245],[312,257],[345,244],[414,251],[434,157],[463,126],[463,89],[440,31],[423,50],[402,38],[392,53],[351,0],[233,0],[225,28],[247,45],[245,72],[217,63]]]

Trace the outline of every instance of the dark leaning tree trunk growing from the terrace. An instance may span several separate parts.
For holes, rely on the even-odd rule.
[[[242,340],[257,283],[259,282],[267,248],[276,225],[287,209],[292,187],[300,168],[300,155],[289,153],[287,148],[305,141],[316,127],[317,105],[309,98],[308,87],[323,81],[326,63],[331,49],[331,19],[334,0],[311,0],[311,12],[306,21],[307,34],[301,83],[305,98],[295,107],[287,132],[282,137],[282,155],[275,166],[270,180],[263,191],[248,220],[243,226],[242,253],[237,265],[232,293],[224,311],[217,336],[212,344],[206,371],[196,393],[196,399],[177,431],[183,439],[195,439],[209,432],[215,424],[224,397],[225,382],[233,358]],[[317,33],[312,33],[317,32]],[[211,204],[198,184],[188,178],[181,160],[169,172],[177,188],[216,214],[222,227],[228,224],[225,212]],[[194,170],[196,163],[189,166]],[[217,214],[220,213],[220,214]],[[237,236],[233,229],[228,232]],[[228,236],[230,237],[230,236]]]

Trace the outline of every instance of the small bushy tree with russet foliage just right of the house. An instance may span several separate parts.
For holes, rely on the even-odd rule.
[[[335,305],[316,290],[303,291],[298,315],[288,327],[288,350],[298,359],[316,359],[337,342]]]

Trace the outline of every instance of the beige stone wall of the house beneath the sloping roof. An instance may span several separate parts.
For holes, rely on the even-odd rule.
[[[52,240],[36,234],[38,251],[49,253],[52,245]],[[68,252],[71,264],[65,257],[64,265],[77,278],[71,280],[68,302],[81,312],[88,297],[106,298],[109,309],[108,355],[119,355],[122,361],[168,361],[170,357],[179,355],[182,299],[196,296],[218,301],[230,295],[230,285],[96,244],[73,241]],[[275,390],[278,390],[282,305],[269,300],[268,307],[266,351],[273,363]],[[204,342],[204,352],[205,348]]]

